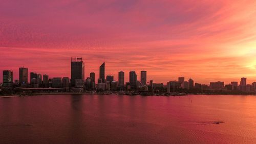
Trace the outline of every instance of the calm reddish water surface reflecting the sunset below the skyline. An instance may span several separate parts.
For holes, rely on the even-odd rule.
[[[0,143],[255,142],[254,96],[0,98]]]

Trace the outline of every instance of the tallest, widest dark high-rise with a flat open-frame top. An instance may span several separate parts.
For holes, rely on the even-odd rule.
[[[75,87],[76,80],[84,81],[84,63],[82,57],[71,57],[71,86]]]

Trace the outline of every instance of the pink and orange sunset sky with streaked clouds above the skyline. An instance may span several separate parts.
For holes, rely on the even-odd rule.
[[[18,68],[70,77],[82,56],[85,77],[105,61],[106,75],[147,71],[147,80],[178,77],[256,81],[256,1],[0,0],[0,81]]]

